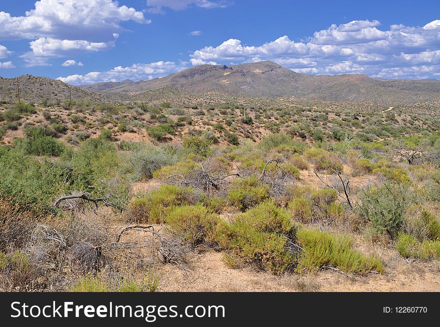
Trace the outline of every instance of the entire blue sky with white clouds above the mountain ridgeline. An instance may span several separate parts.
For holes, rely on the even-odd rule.
[[[72,84],[273,60],[440,79],[440,1],[1,0],[0,76]]]

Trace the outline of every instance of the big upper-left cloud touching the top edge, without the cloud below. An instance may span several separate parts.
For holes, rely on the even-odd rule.
[[[112,39],[123,30],[120,22],[134,20],[147,23],[141,11],[119,6],[113,0],[39,0],[25,16],[0,12],[0,39]]]

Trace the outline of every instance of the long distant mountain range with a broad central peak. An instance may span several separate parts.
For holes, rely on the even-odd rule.
[[[313,100],[404,104],[440,99],[440,81],[370,78],[363,74],[307,75],[271,61],[191,67],[165,77],[133,82],[81,85],[106,93],[140,94],[173,86],[182,93],[220,92],[232,96],[296,96]]]

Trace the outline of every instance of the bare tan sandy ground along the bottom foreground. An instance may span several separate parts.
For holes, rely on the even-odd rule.
[[[387,262],[385,273],[367,276],[329,270],[274,276],[252,267],[230,269],[214,251],[194,254],[186,270],[167,264],[159,272],[161,291],[440,291],[440,261],[407,262],[398,256]]]

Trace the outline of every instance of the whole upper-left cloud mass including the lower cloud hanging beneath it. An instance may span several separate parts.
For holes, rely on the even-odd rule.
[[[39,0],[24,16],[0,11],[0,40],[31,39],[31,52],[21,55],[24,62],[47,65],[46,57],[113,47],[124,30],[121,22],[128,20],[150,22],[141,11],[114,0]]]

